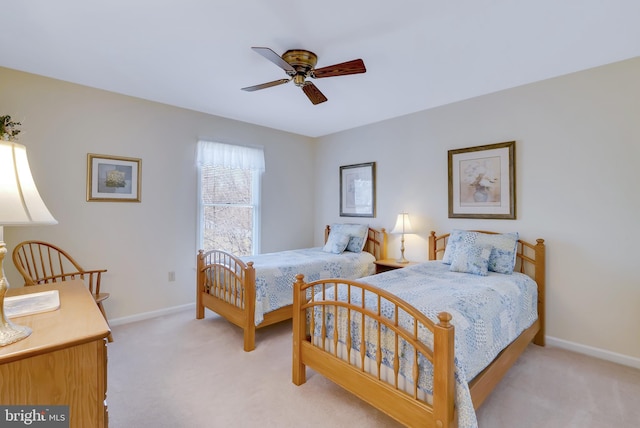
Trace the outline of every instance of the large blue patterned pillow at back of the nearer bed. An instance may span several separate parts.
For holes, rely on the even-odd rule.
[[[480,233],[467,230],[453,230],[447,241],[447,248],[442,256],[442,262],[451,264],[458,246],[462,243],[490,245],[489,270],[492,272],[510,274],[516,264],[516,249],[518,233]]]

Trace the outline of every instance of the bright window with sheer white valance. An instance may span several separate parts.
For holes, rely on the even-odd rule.
[[[199,248],[248,256],[260,250],[260,148],[198,142]]]

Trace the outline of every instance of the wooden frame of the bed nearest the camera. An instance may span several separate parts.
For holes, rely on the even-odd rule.
[[[435,232],[431,232],[429,237],[429,260],[442,258],[448,237],[449,234],[436,237]],[[475,409],[480,407],[532,340],[533,343],[544,346],[544,240],[537,239],[535,244],[519,240],[516,259],[515,270],[529,275],[538,285],[538,320],[507,346],[486,369],[469,382]],[[395,305],[394,313],[398,314],[399,311],[400,313],[404,311],[404,313],[408,314],[414,326],[413,331],[407,331],[400,327],[397,316],[395,320],[390,320],[380,315],[379,311],[376,313],[370,309],[361,307],[361,304],[356,305],[335,300],[315,301],[313,298],[310,299],[307,297],[313,295],[317,290],[322,290],[323,288],[329,289],[336,284],[345,284],[352,295],[365,292],[374,293],[379,296],[378,299],[386,300]],[[314,293],[311,293],[311,290],[314,290]],[[415,386],[417,385],[417,378],[415,378],[418,372],[417,366],[414,366],[413,369],[415,378],[412,380],[414,385],[412,387],[413,391],[408,393],[398,387],[399,369],[397,362],[395,364],[396,367],[392,369],[393,376],[395,377],[395,384],[392,384],[381,380],[379,375],[372,375],[364,371],[364,369],[361,368],[364,367],[364,356],[361,355],[355,358],[356,360],[362,359],[362,361],[356,361],[354,363],[349,363],[338,356],[337,351],[335,351],[337,348],[337,337],[326,339],[327,342],[335,342],[333,351],[331,352],[323,349],[326,346],[325,344],[315,345],[311,341],[308,332],[313,331],[313,328],[317,328],[318,326],[313,325],[313,317],[309,317],[308,319],[306,315],[308,311],[312,311],[315,308],[322,310],[322,307],[326,305],[349,309],[347,313],[349,314],[348,316],[351,317],[350,319],[354,319],[355,317],[364,318],[365,315],[375,319],[378,322],[378,335],[380,334],[380,326],[384,325],[386,329],[392,331],[396,336],[396,351],[398,347],[397,338],[402,338],[413,348],[415,352],[414,361],[418,360],[418,354],[422,354],[428,358],[434,367],[432,404],[428,404],[426,401],[418,398],[418,390],[417,386]],[[380,300],[378,307],[380,307]],[[456,412],[454,411],[454,327],[449,322],[452,319],[450,314],[442,312],[438,315],[438,319],[439,322],[434,323],[407,302],[368,284],[336,279],[305,283],[303,276],[298,275],[296,285],[294,286],[293,299],[293,383],[296,385],[305,383],[306,367],[309,367],[407,426],[455,428],[458,426],[458,421]],[[337,321],[335,322],[337,323]],[[429,349],[424,343],[417,339],[419,326],[428,328],[433,332],[433,349]],[[321,326],[321,328],[324,328],[324,326]],[[348,330],[349,329],[347,329],[347,331]],[[364,334],[362,334],[362,337],[364,337]],[[351,348],[349,345],[350,340],[351,337],[348,335],[347,349]],[[378,351],[376,355],[379,356],[381,355],[379,342],[377,346]],[[360,349],[362,349],[362,346]],[[354,359],[354,356],[349,355],[348,359]],[[380,363],[380,361],[377,361],[378,372]]]

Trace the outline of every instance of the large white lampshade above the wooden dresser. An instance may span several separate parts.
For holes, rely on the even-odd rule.
[[[56,223],[33,181],[25,146],[0,141],[0,225]]]

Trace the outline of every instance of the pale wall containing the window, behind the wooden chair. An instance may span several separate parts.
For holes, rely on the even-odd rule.
[[[14,287],[22,278],[11,262],[13,245],[43,239],[85,268],[108,269],[103,287],[111,293],[105,302],[111,319],[194,302],[198,138],[264,146],[263,251],[313,242],[308,138],[6,68],[0,68],[0,114],[22,122],[20,142],[59,222],[5,228],[5,271]],[[142,202],[86,202],[87,153],[141,158]]]

